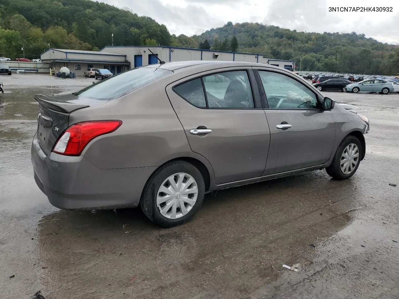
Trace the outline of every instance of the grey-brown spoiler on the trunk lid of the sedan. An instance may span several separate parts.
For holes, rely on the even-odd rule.
[[[40,105],[50,108],[51,110],[71,113],[72,111],[90,107],[87,104],[76,104],[73,102],[67,102],[67,100],[76,100],[77,96],[73,94],[67,94],[63,96],[50,96],[46,94],[35,94],[35,100],[39,102]]]

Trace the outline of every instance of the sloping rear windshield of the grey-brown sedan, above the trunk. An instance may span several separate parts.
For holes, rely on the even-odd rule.
[[[138,67],[104,79],[96,84],[86,87],[85,89],[75,92],[74,94],[76,96],[95,98],[97,100],[112,100],[114,98],[120,98],[125,94],[172,73],[172,71],[166,69]]]

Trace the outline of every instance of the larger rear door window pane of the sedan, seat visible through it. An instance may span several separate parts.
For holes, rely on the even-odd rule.
[[[203,77],[209,108],[255,107],[247,71],[230,71]]]

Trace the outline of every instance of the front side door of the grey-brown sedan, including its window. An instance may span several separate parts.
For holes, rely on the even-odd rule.
[[[257,68],[270,148],[263,175],[325,164],[331,157],[335,122],[322,98],[290,74]]]

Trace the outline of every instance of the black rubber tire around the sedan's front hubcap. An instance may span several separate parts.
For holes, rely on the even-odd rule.
[[[357,157],[357,164],[356,166],[352,169],[350,173],[344,173],[341,169],[341,160],[342,156],[344,153],[344,150],[349,146],[350,144],[355,144],[358,147],[358,157]],[[341,144],[338,146],[334,158],[332,159],[331,165],[326,168],[326,171],[330,177],[336,180],[344,180],[344,179],[349,179],[356,173],[356,170],[358,170],[360,160],[361,160],[361,153],[362,153],[362,148],[361,148],[361,143],[358,138],[355,136],[346,136],[344,140],[342,140]],[[353,158],[352,158],[353,159]],[[350,160],[352,161],[352,160]],[[353,161],[355,161],[353,159]],[[353,166],[353,163],[352,165]]]

